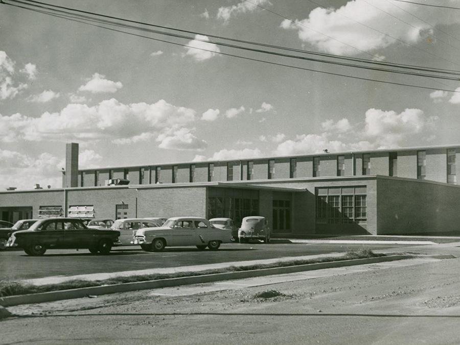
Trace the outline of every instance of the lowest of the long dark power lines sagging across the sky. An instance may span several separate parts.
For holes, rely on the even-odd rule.
[[[128,35],[136,36],[136,37],[142,37],[142,38],[146,38],[146,39],[150,39],[150,40],[155,40],[155,41],[169,43],[169,44],[175,44],[175,45],[184,46],[184,47],[188,46],[187,44],[171,42],[171,41],[167,41],[167,40],[152,38],[152,37],[149,37],[149,36],[134,34],[134,33],[130,33],[130,32],[122,31],[122,30],[116,30],[116,29],[112,29],[112,28],[107,28],[107,27],[97,25],[97,24],[91,24],[91,23],[88,23],[88,22],[85,22],[85,21],[82,21],[82,20],[77,20],[77,19],[72,18],[71,16],[75,16],[75,14],[58,15],[58,14],[50,13],[50,12],[47,12],[47,11],[36,10],[36,9],[33,9],[33,8],[14,5],[14,4],[9,4],[9,3],[5,3],[5,2],[3,2],[3,4],[10,5],[10,6],[13,6],[13,7],[22,8],[22,9],[26,9],[26,10],[30,10],[30,11],[33,11],[33,12],[47,14],[47,15],[51,15],[51,16],[55,16],[55,17],[60,17],[60,18],[63,18],[63,19],[72,20],[72,21],[84,23],[84,24],[87,24],[87,25],[90,25],[90,26],[94,26],[94,27],[98,27],[98,28],[102,28],[102,29],[106,29],[106,30],[110,30],[110,31],[114,31],[114,32],[124,33],[124,34],[128,34]],[[92,20],[97,21],[95,19],[92,19]],[[119,24],[119,25],[123,27],[123,24]],[[327,75],[340,76],[340,77],[352,78],[352,79],[357,79],[357,80],[365,80],[365,81],[372,81],[372,82],[377,82],[377,83],[385,83],[385,84],[400,85],[400,86],[409,86],[409,87],[416,87],[416,88],[429,89],[429,90],[460,92],[460,91],[455,91],[455,90],[450,90],[450,89],[440,89],[440,88],[433,88],[433,87],[427,87],[427,86],[421,86],[421,85],[412,85],[412,84],[405,84],[405,83],[388,82],[388,81],[382,81],[382,80],[377,80],[377,79],[370,79],[370,78],[343,75],[342,73],[334,73],[334,72],[316,70],[316,69],[312,69],[312,68],[305,68],[305,67],[300,67],[300,66],[292,66],[292,65],[287,65],[287,64],[283,64],[283,63],[276,63],[276,62],[271,62],[271,61],[255,59],[255,58],[243,57],[243,56],[239,56],[239,55],[235,55],[235,54],[216,52],[216,51],[208,50],[208,49],[204,49],[204,48],[195,48],[195,49],[199,49],[199,50],[206,51],[206,52],[212,52],[212,53],[219,54],[219,55],[231,56],[231,57],[235,57],[235,58],[239,58],[239,59],[245,59],[245,60],[249,60],[249,61],[262,62],[262,63],[271,64],[271,65],[277,65],[277,66],[283,66],[283,67],[290,67],[290,68],[294,68],[294,69],[313,71],[313,72],[318,72],[318,73],[324,73],[324,74],[327,74]]]

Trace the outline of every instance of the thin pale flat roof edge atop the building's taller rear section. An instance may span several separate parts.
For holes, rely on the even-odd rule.
[[[460,149],[460,144],[455,145],[433,145],[433,146],[415,146],[415,147],[393,147],[392,149],[376,149],[376,150],[358,150],[358,151],[338,151],[338,152],[318,152],[318,153],[305,153],[290,156],[263,156],[263,157],[247,157],[247,158],[234,158],[224,160],[203,160],[203,161],[185,161],[185,162],[168,162],[168,163],[152,163],[141,165],[127,165],[127,166],[108,166],[98,167],[91,169],[79,169],[78,171],[94,171],[94,170],[112,170],[112,169],[129,169],[129,168],[142,168],[148,166],[165,166],[165,165],[186,165],[186,164],[202,164],[202,163],[227,163],[238,161],[258,161],[267,159],[290,159],[297,157],[317,157],[328,155],[346,155],[346,154],[363,154],[363,153],[379,153],[379,152],[398,152],[398,151],[420,151],[420,150],[435,150],[435,149]]]

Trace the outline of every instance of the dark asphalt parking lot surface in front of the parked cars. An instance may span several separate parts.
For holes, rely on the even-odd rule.
[[[87,250],[49,250],[41,257],[31,257],[21,250],[0,251],[0,272],[9,280],[50,276],[73,276],[111,273],[163,267],[179,267],[228,261],[261,260],[348,252],[360,248],[403,248],[397,244],[335,244],[335,243],[229,243],[217,251],[198,251],[195,247],[166,248],[163,252],[147,253],[136,246],[119,247],[107,256]]]

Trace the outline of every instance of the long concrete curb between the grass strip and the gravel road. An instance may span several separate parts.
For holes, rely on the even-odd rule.
[[[376,258],[310,263],[310,264],[296,265],[296,266],[263,268],[263,269],[246,270],[246,271],[239,271],[239,272],[216,273],[216,274],[201,275],[201,276],[149,280],[149,281],[144,281],[144,282],[122,283],[122,284],[113,284],[113,285],[83,287],[79,289],[14,295],[14,296],[0,298],[0,306],[12,307],[12,306],[17,306],[21,304],[34,304],[34,303],[44,303],[44,302],[52,302],[52,301],[60,301],[60,300],[71,300],[71,299],[76,299],[76,298],[87,297],[88,295],[101,295],[101,294],[109,294],[109,293],[117,293],[117,292],[155,289],[155,288],[161,288],[161,287],[172,287],[172,286],[179,286],[179,285],[210,283],[210,282],[231,280],[231,279],[271,276],[271,275],[278,275],[278,274],[303,272],[303,271],[309,271],[309,270],[315,270],[315,269],[346,267],[346,266],[362,265],[362,264],[385,262],[385,261],[396,261],[396,260],[411,259],[411,258],[416,258],[416,257],[426,257],[426,258],[435,258],[435,259],[453,259],[455,258],[452,255],[392,255],[392,256],[382,256],[382,257],[376,257]]]

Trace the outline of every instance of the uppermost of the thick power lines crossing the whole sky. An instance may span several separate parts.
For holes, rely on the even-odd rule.
[[[228,37],[223,37],[223,36],[216,36],[216,35],[211,35],[211,34],[206,34],[206,33],[195,32],[195,31],[188,31],[188,30],[181,30],[181,29],[176,29],[176,28],[171,28],[171,27],[159,26],[159,25],[156,25],[156,24],[151,24],[151,23],[146,23],[146,22],[141,22],[141,21],[136,21],[136,20],[129,20],[129,19],[120,18],[120,17],[107,16],[107,15],[104,15],[104,14],[99,14],[99,13],[94,13],[94,12],[88,12],[88,11],[82,11],[82,10],[77,10],[77,9],[58,6],[58,5],[46,4],[46,3],[42,3],[42,2],[38,2],[38,1],[34,1],[34,0],[25,0],[25,1],[27,1],[27,3],[21,2],[21,1],[18,1],[18,0],[9,0],[9,1],[25,4],[25,5],[28,5],[28,6],[35,6],[35,7],[39,7],[39,8],[45,8],[45,9],[49,9],[49,10],[52,10],[52,11],[59,11],[59,10],[50,9],[49,7],[60,8],[60,9],[65,9],[67,11],[85,13],[85,14],[100,16],[100,17],[109,18],[109,19],[127,21],[127,22],[131,22],[131,23],[135,23],[135,24],[142,24],[142,25],[145,25],[145,26],[150,26],[150,27],[164,29],[164,30],[177,31],[177,32],[188,33],[188,34],[193,34],[193,35],[205,35],[205,36],[209,36],[209,37],[213,37],[213,38],[217,38],[217,39],[229,40],[229,41],[245,43],[245,44],[252,44],[252,45],[259,45],[259,46],[265,46],[265,47],[271,47],[271,48],[276,48],[276,49],[280,49],[280,50],[295,51],[295,52],[305,53],[305,54],[310,54],[310,55],[326,56],[326,57],[331,57],[331,58],[336,58],[336,59],[359,61],[359,62],[363,62],[363,63],[376,64],[376,65],[385,65],[385,66],[398,67],[398,68],[408,68],[408,69],[431,71],[431,72],[436,72],[436,73],[450,73],[451,72],[454,75],[457,75],[459,73],[459,71],[456,71],[456,70],[440,69],[440,68],[432,68],[432,67],[421,67],[421,66],[415,66],[415,65],[405,65],[405,64],[381,62],[381,61],[379,62],[379,61],[373,61],[373,60],[358,59],[358,58],[351,58],[351,57],[343,57],[343,56],[340,56],[340,55],[304,51],[304,50],[298,50],[298,49],[295,49],[295,48],[288,48],[288,47],[277,46],[277,45],[270,45],[270,44],[252,42],[252,41],[239,40],[239,39],[228,38]],[[48,7],[43,7],[43,6],[40,6],[40,5],[33,5],[33,4],[29,4],[29,3],[40,4],[40,5],[44,5],[44,6],[48,6]],[[60,12],[68,14],[68,12],[65,12],[65,11],[60,11]],[[85,17],[85,18],[91,18],[91,17]],[[137,27],[132,27],[132,28],[137,28]],[[141,29],[139,29],[139,30],[141,30]],[[145,29],[142,29],[142,30],[145,30]],[[165,33],[165,32],[155,32],[155,33],[169,35],[168,33]],[[189,38],[189,37],[187,37],[187,38]],[[193,39],[193,38],[189,38],[189,39]],[[194,38],[194,39],[195,40],[200,40],[202,42],[210,42],[209,40],[204,40],[204,39],[198,39],[198,38]],[[215,44],[223,44],[223,43],[219,43],[219,42],[213,42],[213,43],[215,43]]]

